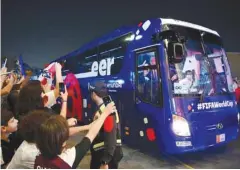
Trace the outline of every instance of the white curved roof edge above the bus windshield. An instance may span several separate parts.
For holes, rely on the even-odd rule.
[[[214,30],[212,30],[212,29],[203,27],[203,26],[201,26],[201,25],[197,25],[197,24],[193,24],[193,23],[185,22],[185,21],[180,21],[180,20],[176,20],[176,19],[170,19],[170,18],[160,18],[160,19],[161,19],[162,25],[165,25],[165,24],[179,25],[179,26],[183,26],[183,27],[189,27],[189,28],[194,28],[194,29],[202,30],[202,31],[209,32],[209,33],[215,34],[215,35],[217,35],[217,36],[220,36],[220,35],[217,33],[217,31],[214,31]]]

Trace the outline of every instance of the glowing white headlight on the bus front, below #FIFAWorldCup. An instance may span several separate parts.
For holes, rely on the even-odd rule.
[[[187,120],[174,114],[172,130],[177,136],[191,136]]]

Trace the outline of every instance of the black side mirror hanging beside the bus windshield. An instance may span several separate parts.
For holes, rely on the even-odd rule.
[[[181,43],[168,43],[168,57],[171,63],[183,61],[184,50]]]

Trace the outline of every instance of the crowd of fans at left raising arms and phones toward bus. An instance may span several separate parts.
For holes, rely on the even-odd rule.
[[[77,126],[75,118],[66,118],[68,92],[59,91],[63,82],[61,65],[55,63],[54,88],[39,80],[8,73],[1,68],[1,167],[76,168],[89,150],[105,119],[116,111],[109,103],[89,125]],[[60,113],[52,109],[61,98]],[[66,147],[69,136],[87,131],[76,146]]]

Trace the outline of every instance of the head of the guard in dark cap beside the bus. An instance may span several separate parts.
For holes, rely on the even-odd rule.
[[[98,102],[104,96],[108,95],[106,84],[102,81],[94,82],[89,85],[91,98],[94,102]]]

